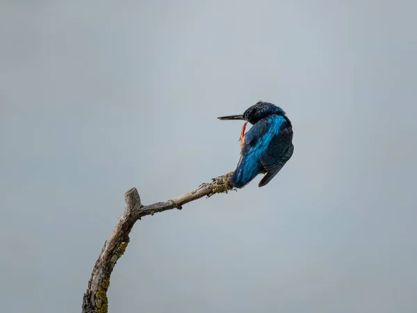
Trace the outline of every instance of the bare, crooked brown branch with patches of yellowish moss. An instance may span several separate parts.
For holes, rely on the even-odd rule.
[[[213,178],[213,182],[200,185],[195,191],[180,195],[177,198],[166,202],[157,202],[150,205],[143,205],[136,188],[131,188],[124,195],[126,209],[124,214],[117,221],[115,230],[110,239],[104,243],[99,258],[97,259],[87,291],[83,296],[83,313],[107,313],[108,300],[107,289],[110,284],[110,276],[118,259],[123,255],[129,243],[129,233],[136,220],[143,216],[154,215],[155,213],[170,209],[182,209],[183,204],[197,200],[204,196],[210,197],[215,193],[227,193],[233,186],[230,184],[230,177],[233,172]]]

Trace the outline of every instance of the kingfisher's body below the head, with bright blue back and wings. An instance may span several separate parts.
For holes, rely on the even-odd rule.
[[[291,122],[282,115],[269,115],[256,122],[242,139],[240,161],[231,176],[231,183],[242,188],[256,175],[266,172],[259,186],[268,184],[291,158],[292,138]]]

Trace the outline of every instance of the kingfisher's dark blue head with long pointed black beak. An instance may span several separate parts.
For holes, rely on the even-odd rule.
[[[240,115],[228,115],[218,118],[219,120],[245,120],[254,125],[259,120],[266,118],[268,115],[283,115],[286,116],[286,113],[279,106],[275,106],[269,102],[259,101],[253,106],[250,106],[243,114]]]

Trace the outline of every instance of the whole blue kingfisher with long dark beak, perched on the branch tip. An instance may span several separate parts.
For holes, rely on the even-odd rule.
[[[240,159],[230,178],[235,188],[243,188],[259,174],[265,175],[258,186],[265,186],[293,155],[293,125],[279,106],[259,101],[243,114],[218,119],[245,120],[239,138]],[[252,127],[245,134],[247,122]]]

